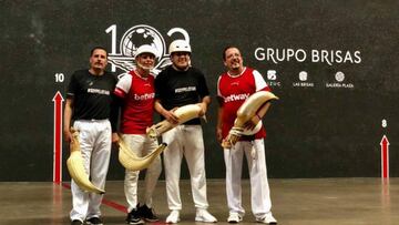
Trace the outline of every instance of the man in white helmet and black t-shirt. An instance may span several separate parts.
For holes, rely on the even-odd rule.
[[[211,102],[204,74],[191,67],[191,47],[184,40],[175,40],[170,45],[172,65],[155,79],[155,110],[167,121],[176,124],[175,108],[198,104],[204,115]],[[196,207],[195,221],[215,223],[217,219],[207,212],[204,140],[200,119],[191,120],[162,135],[167,143],[163,158],[165,165],[167,205],[171,214],[166,223],[177,223],[182,201],[180,196],[180,174],[183,155],[188,165],[193,200]]]

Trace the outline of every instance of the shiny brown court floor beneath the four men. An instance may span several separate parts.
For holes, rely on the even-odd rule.
[[[399,178],[307,178],[269,180],[273,214],[283,225],[360,225],[399,224]],[[244,182],[246,215],[241,224],[256,224],[249,208],[249,183]],[[0,224],[70,224],[71,191],[69,183],[0,183]],[[218,224],[227,224],[225,184],[207,181],[209,212]],[[194,224],[195,208],[190,183],[182,181],[183,211],[180,224]],[[161,181],[154,196],[154,208],[163,224],[168,215],[165,183]],[[123,182],[106,183],[102,213],[104,224],[125,224]],[[198,224],[198,223],[197,223]],[[200,223],[201,224],[201,223]]]

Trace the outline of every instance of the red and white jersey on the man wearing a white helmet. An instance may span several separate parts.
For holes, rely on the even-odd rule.
[[[154,75],[142,78],[131,71],[119,80],[114,94],[124,100],[121,132],[145,134],[145,129],[153,124]]]

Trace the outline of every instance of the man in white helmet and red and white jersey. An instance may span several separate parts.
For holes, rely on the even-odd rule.
[[[141,45],[135,53],[136,69],[123,75],[116,83],[114,94],[121,98],[121,133],[124,142],[134,154],[146,155],[158,144],[156,139],[147,137],[146,127],[153,124],[154,112],[154,75],[150,73],[155,64],[155,49],[152,45]],[[145,190],[142,200],[137,201],[137,181],[140,171],[126,170],[124,192],[127,207],[127,224],[144,224],[158,218],[152,211],[152,195],[161,174],[161,158],[157,156],[145,174]],[[143,205],[140,205],[142,203]]]

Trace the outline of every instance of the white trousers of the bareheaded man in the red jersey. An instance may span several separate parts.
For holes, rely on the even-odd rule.
[[[250,177],[250,205],[255,217],[264,217],[270,212],[270,191],[267,182],[264,140],[237,142],[233,149],[224,150],[226,164],[226,194],[231,213],[245,214],[242,206],[243,156],[247,158]]]

